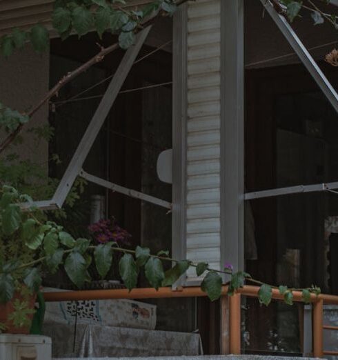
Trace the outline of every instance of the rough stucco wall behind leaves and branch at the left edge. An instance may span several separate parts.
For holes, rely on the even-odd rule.
[[[0,57],[0,102],[19,111],[27,111],[39,102],[49,87],[49,53],[37,54],[28,44],[21,52],[8,59]],[[43,106],[26,129],[48,122],[48,106]],[[1,133],[0,139],[6,134]],[[48,144],[41,141],[39,148],[32,134],[26,132],[25,141],[17,147],[23,159],[45,163],[48,159]]]

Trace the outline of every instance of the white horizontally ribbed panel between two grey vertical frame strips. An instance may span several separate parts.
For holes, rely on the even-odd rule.
[[[221,0],[188,4],[187,88],[186,257],[219,269]]]

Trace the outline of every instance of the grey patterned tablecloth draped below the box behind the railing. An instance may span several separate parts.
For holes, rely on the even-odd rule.
[[[52,357],[152,357],[203,354],[199,334],[81,324],[45,323]]]

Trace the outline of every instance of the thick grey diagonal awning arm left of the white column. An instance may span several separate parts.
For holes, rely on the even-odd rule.
[[[103,98],[99,103],[99,106],[92,117],[92,120],[90,121],[90,124],[83,135],[52,199],[59,208],[61,208],[63,202],[66,200],[66,197],[83,166],[83,162],[86,160],[86,157],[97,138],[97,134],[99,134],[99,131],[110,112],[110,108],[117,98],[117,95],[119,94],[119,91],[121,90],[130,69],[132,68],[132,64],[134,63],[137,54],[139,54],[139,50],[148,36],[150,28],[151,26],[148,26],[148,28],[137,34],[135,45],[131,46],[123,56],[123,59],[121,60],[121,63],[106,90],[106,93],[103,95]]]

